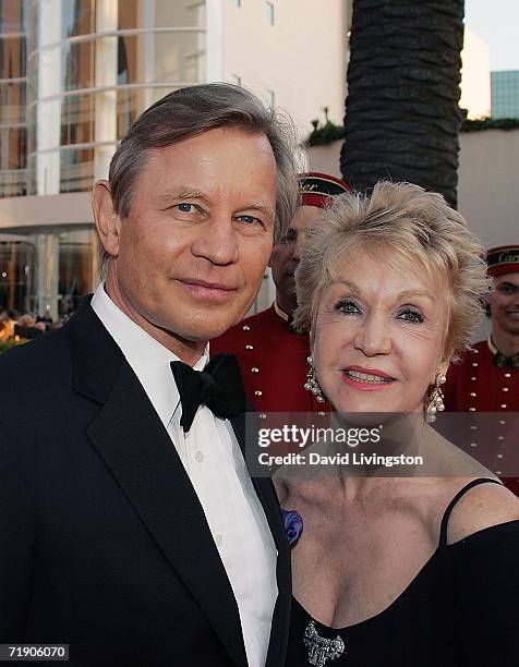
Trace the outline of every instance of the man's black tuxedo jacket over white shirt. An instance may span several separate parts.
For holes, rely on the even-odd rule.
[[[243,446],[244,415],[232,426]],[[253,482],[278,549],[276,667],[290,555],[270,480]],[[89,300],[61,330],[0,357],[0,643],[10,642],[67,643],[71,665],[92,667],[246,665],[198,498]]]

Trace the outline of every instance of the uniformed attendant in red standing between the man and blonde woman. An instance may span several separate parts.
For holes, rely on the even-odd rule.
[[[301,206],[286,237],[270,257],[276,300],[273,305],[210,342],[210,353],[230,352],[240,361],[245,389],[260,412],[328,411],[326,402],[304,389],[309,371],[309,337],[291,326],[295,298],[294,272],[307,231],[333,197],[348,192],[342,181],[325,173],[299,177]]]

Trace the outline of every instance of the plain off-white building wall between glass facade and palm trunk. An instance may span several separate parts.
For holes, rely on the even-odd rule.
[[[285,109],[300,138],[311,121],[345,114],[348,2],[345,0],[273,0],[275,25],[267,21],[265,0],[222,0],[222,77],[241,84]]]

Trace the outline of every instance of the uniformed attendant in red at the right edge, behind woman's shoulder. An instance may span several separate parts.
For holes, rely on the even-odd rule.
[[[492,332],[452,364],[444,402],[451,412],[494,413],[474,419],[470,446],[476,457],[484,447],[482,456],[493,460],[494,472],[519,495],[519,456],[514,456],[519,435],[519,244],[490,250],[487,264],[494,279],[487,298]]]

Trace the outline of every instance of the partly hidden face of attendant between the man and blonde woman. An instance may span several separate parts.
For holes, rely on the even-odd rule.
[[[315,220],[322,214],[323,209],[317,206],[300,206],[287,235],[274,246],[269,264],[276,283],[276,300],[286,313],[292,313],[298,305],[294,271],[301,258],[307,231],[314,227]]]

